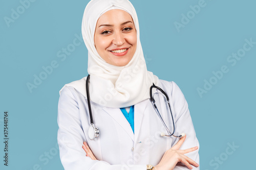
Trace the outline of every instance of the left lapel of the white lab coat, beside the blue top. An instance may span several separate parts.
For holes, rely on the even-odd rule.
[[[133,133],[132,127],[127,121],[127,119],[124,117],[120,108],[103,107],[103,110],[107,112],[126,131],[126,133],[134,141],[134,133]]]

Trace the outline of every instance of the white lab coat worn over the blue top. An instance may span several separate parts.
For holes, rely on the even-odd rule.
[[[85,81],[83,82],[86,88]],[[164,80],[159,80],[159,87],[169,96],[175,134],[184,132],[187,135],[180,149],[199,147],[188,105],[180,88],[176,83]],[[155,93],[154,98],[166,125],[173,131],[172,117],[167,112],[163,95]],[[57,138],[60,160],[66,170],[145,170],[146,164],[157,165],[165,151],[179,140],[176,137],[160,136],[161,132],[167,134],[167,131],[149,99],[134,107],[134,133],[119,108],[103,107],[94,102],[91,105],[94,125],[99,129],[99,137],[94,140],[88,137],[90,116],[86,96],[71,86],[64,87],[60,94]],[[88,142],[98,160],[86,156],[82,149],[83,141]],[[185,155],[199,163],[198,151],[199,149]],[[178,163],[174,169],[188,168]],[[193,169],[198,170],[199,167],[193,166]]]

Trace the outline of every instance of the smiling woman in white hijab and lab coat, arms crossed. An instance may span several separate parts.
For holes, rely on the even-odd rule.
[[[92,0],[84,10],[82,35],[90,80],[88,76],[66,84],[58,104],[58,144],[65,169],[199,169],[199,142],[187,102],[177,84],[147,71],[133,5],[128,0]],[[175,135],[186,136],[161,136],[169,133],[150,101],[153,83],[169,97]],[[156,88],[152,93],[172,131],[165,97]],[[88,99],[99,129],[92,140]]]

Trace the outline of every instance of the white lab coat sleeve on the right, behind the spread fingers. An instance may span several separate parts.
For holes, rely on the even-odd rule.
[[[176,126],[176,132],[175,134],[180,135],[181,133],[186,134],[186,139],[183,142],[181,146],[181,150],[193,148],[198,146],[198,149],[196,151],[190,152],[188,154],[185,154],[185,156],[189,157],[190,159],[194,160],[199,164],[199,142],[196,137],[196,132],[194,129],[194,125],[188,110],[188,104],[185,100],[185,97],[183,93],[181,92],[180,88],[175,82],[172,82],[172,99],[173,100],[173,108],[175,111],[175,126]],[[172,142],[172,146],[175,145],[180,138],[174,137],[174,140]],[[194,170],[199,170],[200,167],[195,167],[191,165]],[[174,170],[178,169],[188,169],[187,166],[185,166],[182,163],[178,163],[177,166],[174,168]]]

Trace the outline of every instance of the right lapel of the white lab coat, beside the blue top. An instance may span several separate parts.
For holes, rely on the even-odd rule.
[[[134,141],[137,142],[140,127],[143,119],[143,115],[145,112],[145,108],[148,105],[149,99],[144,100],[134,106]]]

